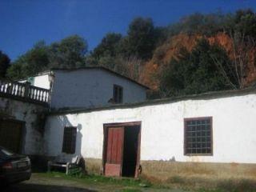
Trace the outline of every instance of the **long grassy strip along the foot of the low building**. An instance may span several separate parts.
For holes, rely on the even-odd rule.
[[[256,182],[247,178],[209,178],[205,175],[171,175],[163,182],[150,182],[145,178],[111,178],[97,174],[75,172],[66,175],[60,172],[40,173],[46,178],[62,178],[85,186],[102,187],[106,191],[141,192],[180,189],[196,192],[256,192]],[[149,189],[147,189],[149,188]],[[174,190],[175,191],[175,190]]]

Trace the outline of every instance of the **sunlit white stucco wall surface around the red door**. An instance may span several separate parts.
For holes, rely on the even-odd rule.
[[[185,156],[184,118],[213,118],[213,155]],[[142,122],[141,160],[179,162],[256,162],[256,94],[187,99],[180,102],[50,115],[45,153],[61,154],[64,126],[78,126],[77,150],[84,158],[102,158],[103,124]]]

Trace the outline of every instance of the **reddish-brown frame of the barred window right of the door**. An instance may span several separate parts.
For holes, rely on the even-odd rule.
[[[197,121],[197,120],[206,120],[210,119],[210,153],[202,154],[188,154],[186,153],[186,122],[188,121]],[[198,118],[184,118],[184,143],[183,143],[183,152],[185,156],[213,156],[214,155],[214,139],[213,139],[213,117],[198,117]]]

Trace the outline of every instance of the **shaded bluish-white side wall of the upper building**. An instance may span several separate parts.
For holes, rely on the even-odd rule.
[[[105,70],[55,70],[50,106],[95,107],[110,105],[113,85],[123,87],[123,102],[146,100],[146,88]]]

